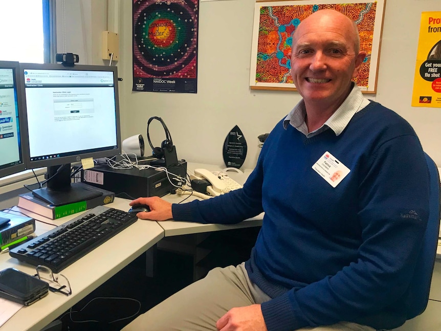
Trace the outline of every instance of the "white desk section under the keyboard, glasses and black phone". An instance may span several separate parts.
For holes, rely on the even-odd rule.
[[[115,202],[106,206],[124,211],[129,209],[128,200],[121,198],[115,198]],[[26,213],[29,214],[27,211]],[[44,220],[60,225],[80,214],[67,216],[61,220]],[[35,217],[41,220],[44,218],[37,217],[37,215]],[[53,226],[36,222],[36,228],[35,233],[38,235],[52,229]],[[164,237],[164,230],[158,223],[138,219],[137,222],[61,271],[61,274],[70,281],[71,296],[49,292],[45,298],[21,308],[0,327],[0,331],[40,330],[155,245],[162,237]],[[19,262],[9,254],[0,254],[0,266],[2,270],[12,267],[28,274],[35,274],[35,267]]]

